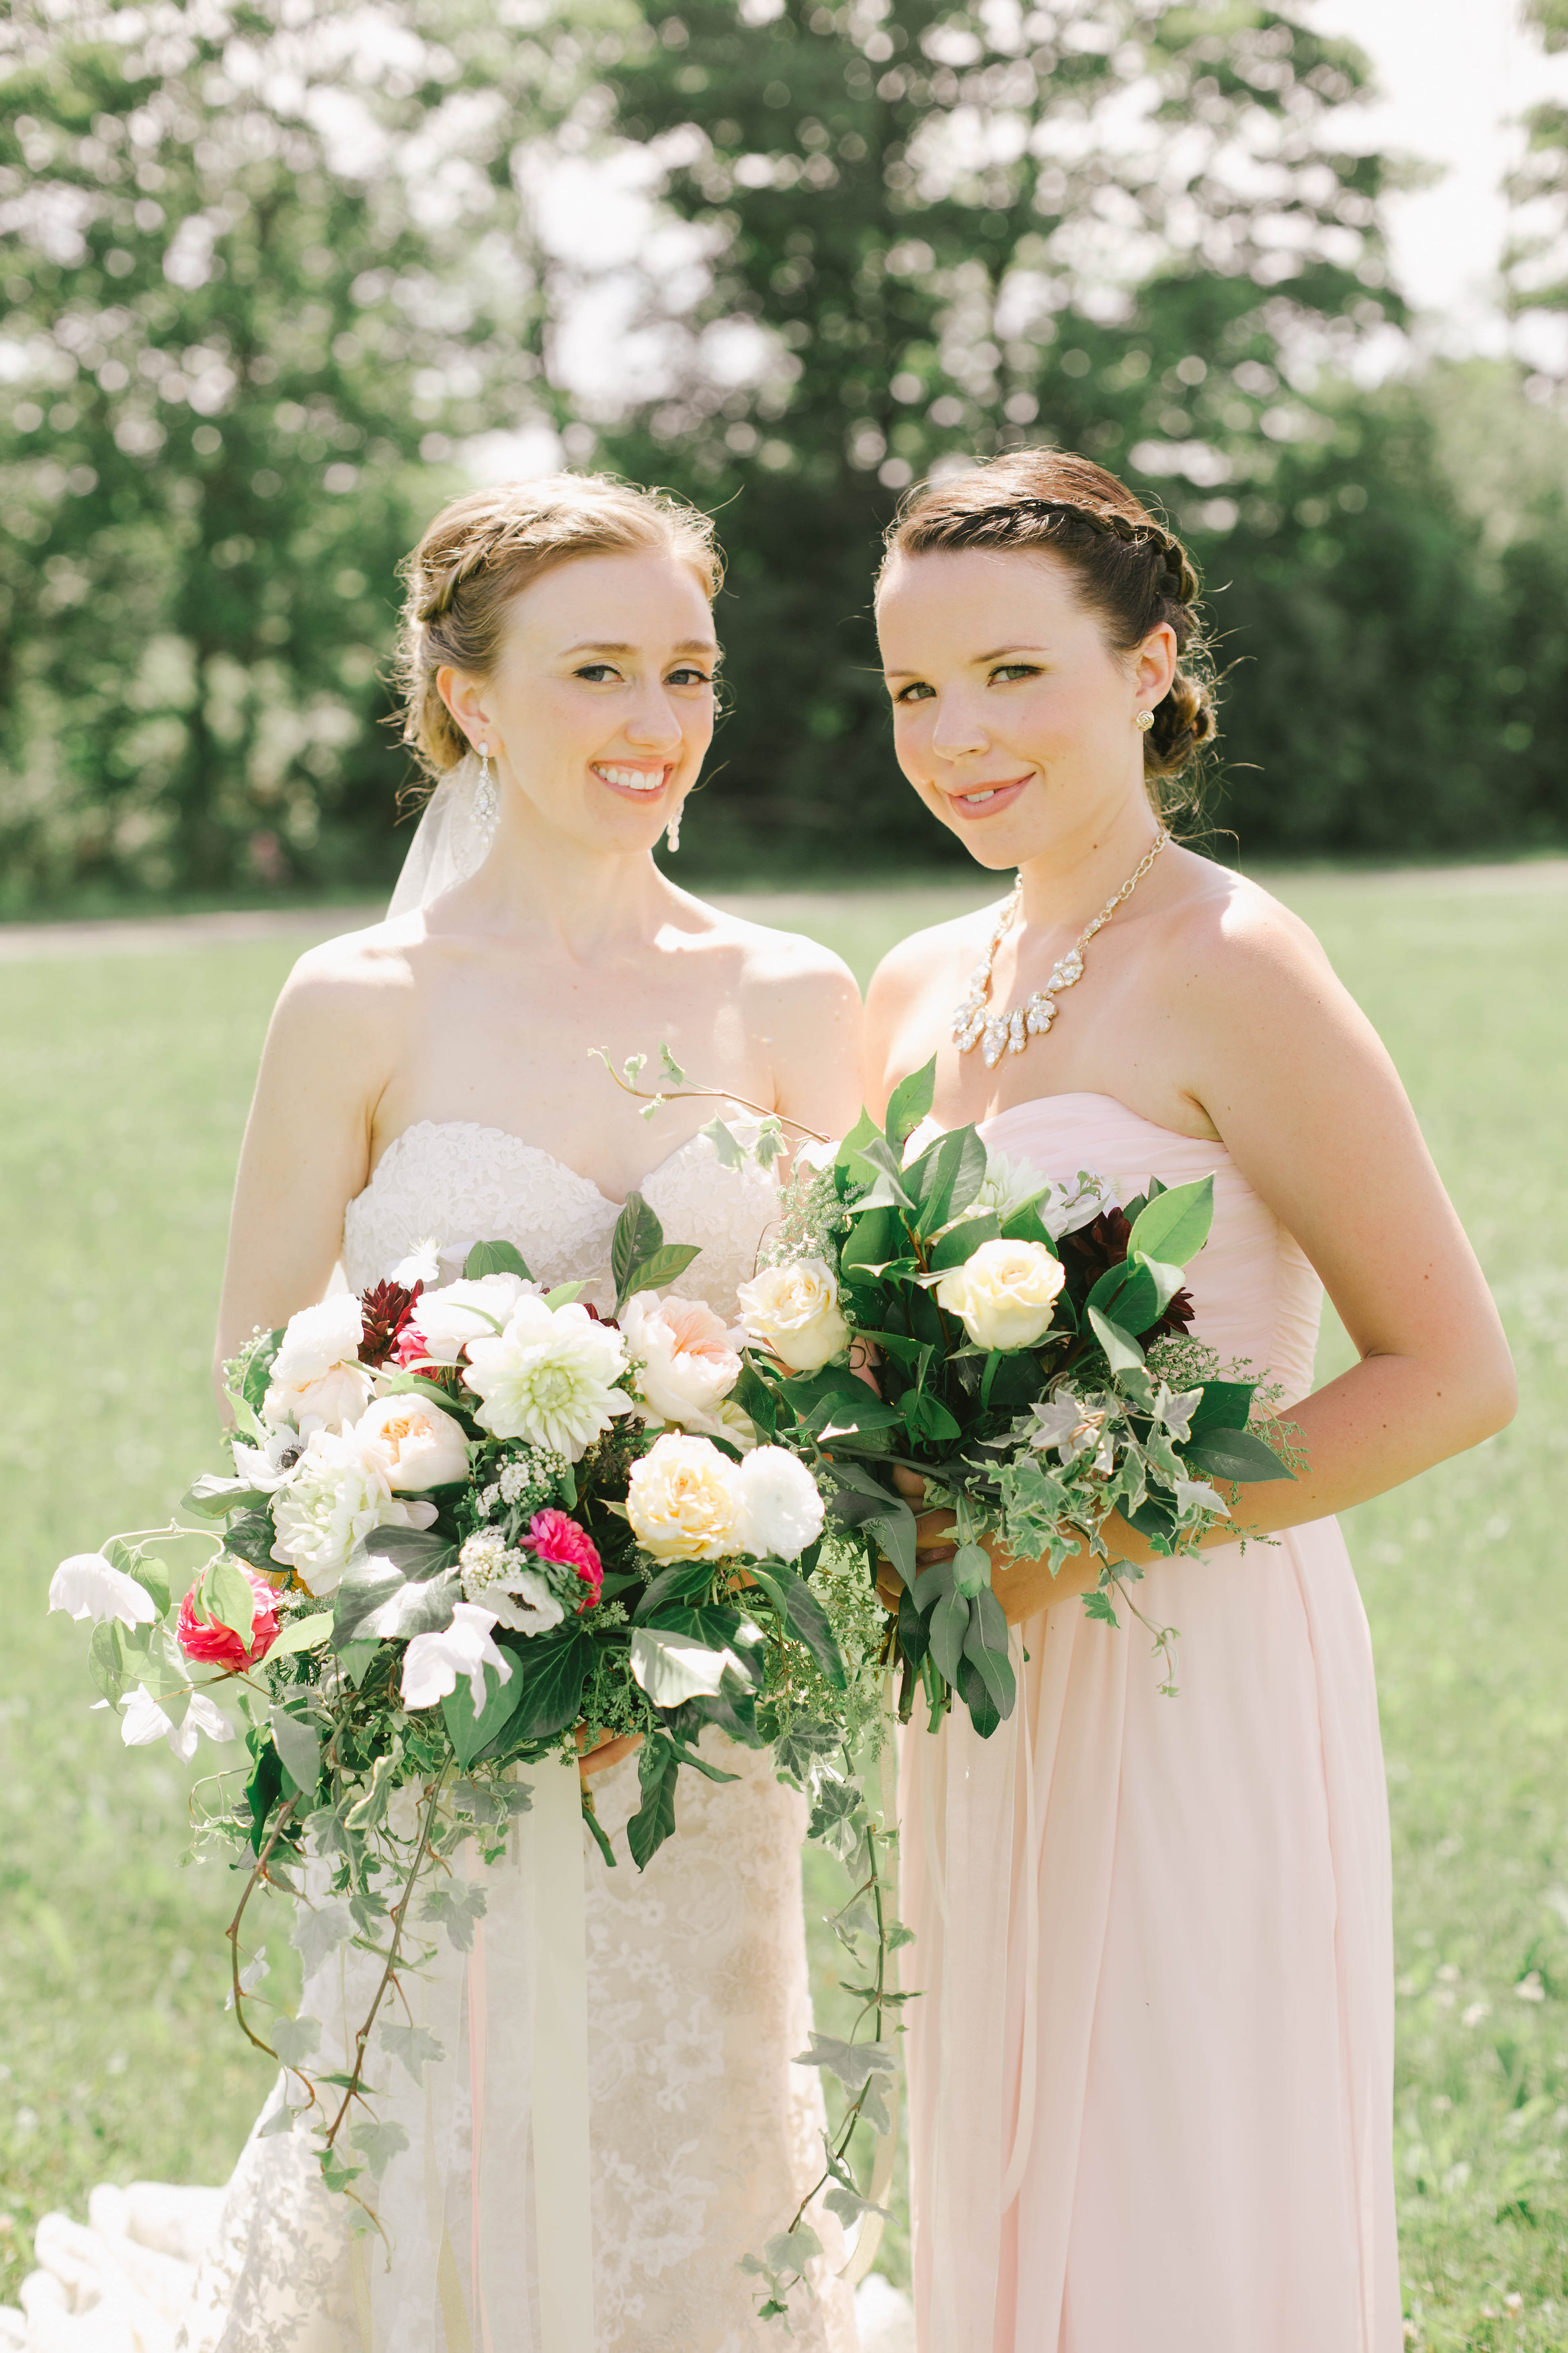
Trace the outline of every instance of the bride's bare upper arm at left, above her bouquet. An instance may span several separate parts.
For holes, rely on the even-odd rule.
[[[289,974],[240,1151],[216,1367],[327,1289],[343,1209],[369,1179],[393,1019],[395,991],[353,939],[313,948]]]

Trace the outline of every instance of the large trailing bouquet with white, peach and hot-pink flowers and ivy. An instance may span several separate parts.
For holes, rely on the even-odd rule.
[[[835,1574],[823,1551],[809,1468],[738,1407],[731,1334],[668,1292],[693,1257],[632,1195],[604,1320],[578,1285],[543,1289],[508,1242],[477,1245],[454,1282],[421,1249],[228,1367],[233,1468],[186,1497],[212,1532],[115,1537],[52,1581],[49,1607],[94,1621],[89,1668],[127,1744],[244,1746],[237,1772],[200,1784],[216,1793],[200,1835],[252,1861],[233,2002],[320,2111],[334,2188],[395,2153],[362,2089],[376,2007],[418,1967],[421,1929],[473,1944],[484,1892],[444,1864],[468,1838],[501,1854],[529,1807],[512,1767],[639,1734],[642,1868],[675,1833],[682,1767],[736,1779],[698,1755],[705,1725],[816,1786],[875,1718],[860,1666],[877,1612],[856,1562]],[[179,1539],[209,1553],[183,1595],[162,1558]],[[583,1809],[614,1864],[588,1795]],[[336,1899],[301,1906],[308,1965],[334,1939],[386,1962],[353,2075],[320,2080],[315,2021],[252,2028],[259,1965],[242,1948],[254,1889],[296,1889],[308,1852],[329,1859]]]

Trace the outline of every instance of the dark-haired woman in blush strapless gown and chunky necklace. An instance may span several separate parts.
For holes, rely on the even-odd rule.
[[[877,595],[898,762],[1018,892],[886,958],[867,1096],[938,1052],[938,1125],[1046,1174],[1215,1172],[1197,1332],[1269,1367],[1307,1449],[1201,1560],[1107,1527],[1180,1628],[1178,1699],[1077,1607],[1088,1565],[997,1553],[1020,1706],[990,1744],[905,1737],[924,2353],[1403,2341],[1387,1800],[1333,1513],[1502,1428],[1514,1377],[1324,951],[1166,831],[1213,734],[1194,595],[1171,532],[1048,449],[917,489]],[[1056,1014],[1009,1026],[1034,993]],[[1307,1395],[1321,1287],[1359,1362]]]

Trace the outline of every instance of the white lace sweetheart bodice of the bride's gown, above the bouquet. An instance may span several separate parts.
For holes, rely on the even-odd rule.
[[[668,1242],[701,1247],[670,1289],[731,1320],[736,1285],[755,1275],[776,1214],[773,1179],[755,1160],[724,1167],[708,1136],[691,1136],[644,1176],[642,1198]],[[388,1144],[343,1212],[343,1273],[362,1292],[435,1240],[451,1278],[473,1242],[512,1242],[541,1282],[583,1282],[583,1297],[609,1313],[618,1217],[621,1202],[538,1144],[473,1120],[418,1120]]]

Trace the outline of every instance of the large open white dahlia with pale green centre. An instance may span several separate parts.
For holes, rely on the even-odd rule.
[[[505,1332],[468,1344],[465,1381],[484,1400],[475,1412],[480,1428],[581,1461],[616,1414],[632,1412],[632,1400],[614,1388],[623,1372],[625,1341],[588,1308],[576,1301],[548,1308],[524,1297]]]

